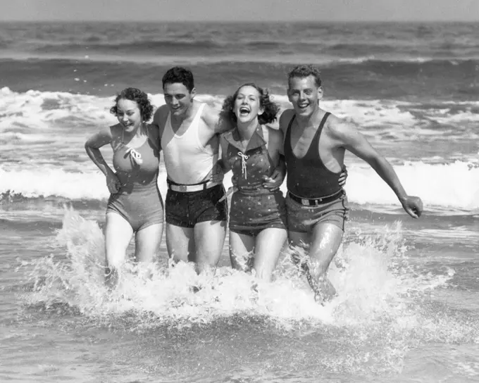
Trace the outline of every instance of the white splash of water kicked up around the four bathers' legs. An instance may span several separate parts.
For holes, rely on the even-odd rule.
[[[338,296],[325,307],[314,303],[289,253],[280,259],[272,283],[230,268],[197,275],[187,263],[162,268],[127,262],[118,288],[108,291],[104,287],[103,234],[96,222],[67,209],[56,237],[58,245],[66,247],[67,259],[37,260],[30,274],[35,280],[30,301],[68,303],[97,318],[135,312],[154,315],[156,322],[209,322],[218,316],[246,313],[265,315],[282,325],[302,320],[358,325],[384,318],[404,320],[404,310],[414,298],[447,282],[447,276],[413,270],[399,223],[382,232],[353,237],[349,236],[350,243],[342,246],[330,268]],[[149,269],[151,278],[140,277],[142,268]]]

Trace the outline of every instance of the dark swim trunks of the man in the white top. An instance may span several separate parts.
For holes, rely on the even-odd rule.
[[[223,184],[199,192],[175,192],[168,189],[165,201],[166,223],[180,227],[194,227],[207,221],[225,221],[228,215]]]

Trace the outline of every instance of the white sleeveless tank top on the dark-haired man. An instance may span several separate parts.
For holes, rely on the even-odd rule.
[[[180,136],[171,127],[171,113],[166,118],[161,149],[168,179],[177,184],[199,184],[208,180],[213,164],[218,161],[218,151],[215,153],[206,149],[199,141],[199,125],[204,106],[204,103],[199,106],[191,125]]]

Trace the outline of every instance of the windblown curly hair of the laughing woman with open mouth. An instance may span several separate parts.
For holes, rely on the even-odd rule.
[[[225,98],[225,101],[223,101],[223,107],[221,108],[221,117],[225,118],[226,120],[230,120],[232,123],[236,123],[237,118],[235,113],[233,113],[233,107],[235,106],[235,100],[238,96],[239,90],[242,87],[254,87],[254,89],[256,89],[259,93],[259,105],[261,108],[263,108],[263,113],[258,115],[259,123],[273,123],[273,121],[276,120],[276,115],[278,114],[280,107],[277,103],[271,101],[268,89],[265,90],[254,84],[254,82],[242,84],[238,89],[236,89],[235,94]]]

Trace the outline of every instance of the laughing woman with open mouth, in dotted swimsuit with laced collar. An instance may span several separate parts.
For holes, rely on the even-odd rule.
[[[235,192],[230,208],[230,259],[247,270],[253,256],[256,277],[270,281],[287,239],[286,205],[279,188],[264,182],[280,161],[282,133],[273,123],[278,106],[256,84],[244,84],[223,103],[222,115],[235,129],[221,137],[222,163],[232,170]]]

